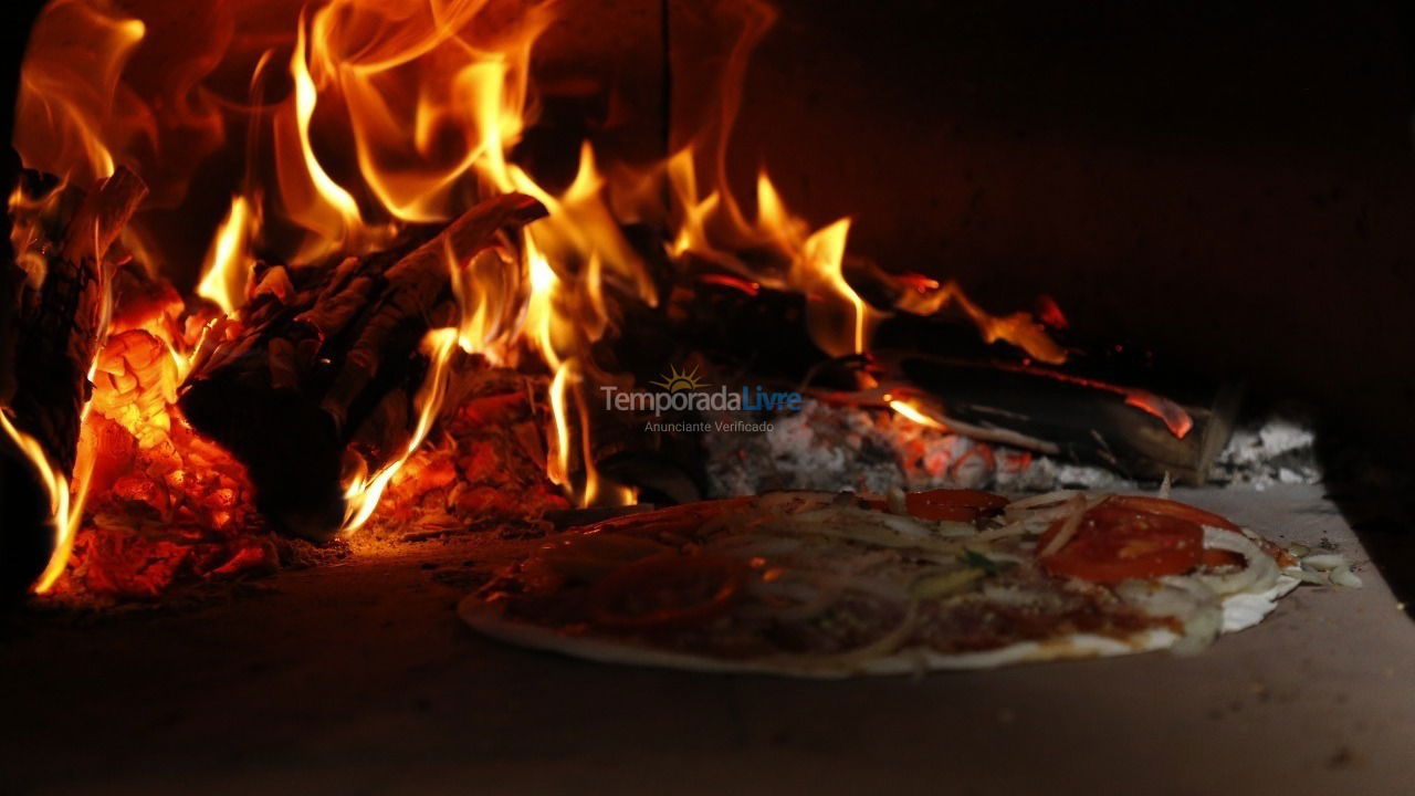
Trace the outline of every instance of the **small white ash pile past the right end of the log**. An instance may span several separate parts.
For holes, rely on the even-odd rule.
[[[1286,409],[1240,426],[1214,462],[1211,480],[1257,489],[1320,482],[1310,421]]]

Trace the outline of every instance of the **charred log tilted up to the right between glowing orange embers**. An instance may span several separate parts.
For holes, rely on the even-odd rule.
[[[267,517],[330,538],[344,523],[347,450],[376,470],[416,423],[427,367],[419,346],[437,319],[454,316],[449,258],[466,262],[543,214],[508,194],[430,239],[348,258],[300,289],[283,268],[267,269],[242,316],[208,333],[180,406],[246,466]]]

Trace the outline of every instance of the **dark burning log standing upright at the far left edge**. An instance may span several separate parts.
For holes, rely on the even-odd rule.
[[[28,237],[0,273],[0,405],[13,431],[38,446],[45,465],[68,479],[91,385],[88,371],[102,341],[109,302],[109,248],[137,210],[147,187],[126,169],[86,194],[61,188],[14,218]],[[79,198],[82,197],[82,198]],[[28,200],[24,200],[28,201]],[[75,204],[76,203],[76,204]],[[52,550],[50,487],[13,433],[0,433],[4,477],[0,514],[0,592],[28,586]]]

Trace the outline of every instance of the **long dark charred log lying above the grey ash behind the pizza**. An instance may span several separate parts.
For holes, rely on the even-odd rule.
[[[880,288],[870,282],[865,292],[890,292]],[[710,266],[685,272],[664,295],[666,312],[631,306],[613,344],[614,361],[641,382],[664,363],[700,354],[727,373],[807,385],[825,401],[899,409],[906,399],[906,411],[927,406],[923,414],[932,421],[979,440],[1101,465],[1131,479],[1167,473],[1189,483],[1206,480],[1238,409],[1237,391],[1225,385],[1191,385],[1180,402],[1136,387],[1149,375],[1139,370],[1023,364],[971,324],[910,312],[880,324],[876,343],[889,348],[853,364],[831,361],[805,329],[811,297]]]

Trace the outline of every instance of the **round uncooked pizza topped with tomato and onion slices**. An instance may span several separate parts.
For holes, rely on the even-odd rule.
[[[781,491],[549,537],[460,613],[601,661],[843,677],[1191,653],[1300,578],[1276,544],[1160,497]]]

